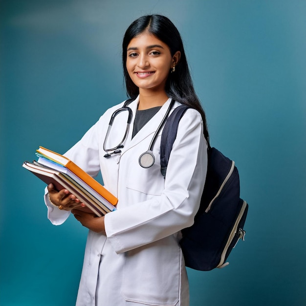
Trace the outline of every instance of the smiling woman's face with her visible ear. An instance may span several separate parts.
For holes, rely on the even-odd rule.
[[[128,45],[126,67],[139,92],[165,91],[170,69],[178,63],[179,56],[179,51],[171,56],[167,44],[145,31]]]

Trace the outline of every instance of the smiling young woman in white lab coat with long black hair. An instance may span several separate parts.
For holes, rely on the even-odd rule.
[[[114,153],[126,131],[129,111],[116,116],[105,138],[112,114],[124,103],[108,109],[65,154],[92,176],[101,171],[105,187],[118,197],[117,210],[95,217],[78,210],[84,204],[67,190],[56,192],[49,185],[48,218],[61,224],[72,212],[89,229],[78,306],[187,306],[180,231],[193,224],[199,206],[208,132],[174,24],[160,15],[132,22],[123,40],[123,69],[134,101],[129,105],[131,127],[120,152]],[[153,165],[142,167],[139,157],[148,150],[167,109],[182,103],[192,109],[179,123],[164,178],[161,132],[152,149]]]

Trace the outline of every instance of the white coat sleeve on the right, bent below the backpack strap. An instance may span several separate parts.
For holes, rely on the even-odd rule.
[[[200,114],[182,117],[160,196],[105,216],[106,234],[116,253],[149,244],[194,222],[207,171],[207,143]]]

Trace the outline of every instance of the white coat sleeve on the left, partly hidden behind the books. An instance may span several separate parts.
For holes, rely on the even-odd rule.
[[[103,120],[103,118],[101,117],[100,120]],[[64,154],[91,176],[96,176],[100,171],[97,134],[98,124],[96,123],[79,142]],[[63,224],[69,217],[69,211],[61,211],[57,207],[52,206],[48,198],[47,188],[45,188],[44,202],[48,209],[48,219],[52,224]]]

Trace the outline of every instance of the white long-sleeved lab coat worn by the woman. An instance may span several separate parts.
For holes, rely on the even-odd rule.
[[[111,114],[123,103],[107,110],[65,154],[92,176],[101,170],[105,187],[119,199],[117,211],[105,216],[107,236],[88,233],[78,306],[189,305],[178,242],[180,230],[193,224],[206,175],[207,143],[197,110],[188,109],[180,121],[166,179],[160,173],[161,132],[153,147],[154,165],[145,169],[138,163],[170,101],[132,139],[138,98],[131,103],[133,117],[121,154],[104,158],[103,142]],[[115,119],[107,147],[120,142],[125,116]],[[45,201],[51,222],[63,223],[69,212]]]

